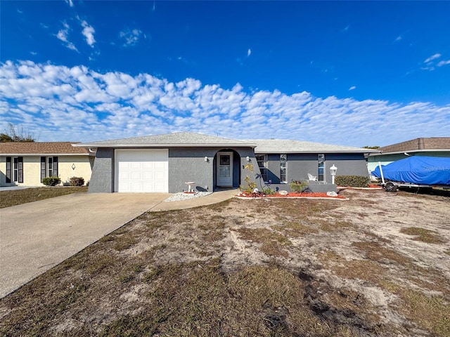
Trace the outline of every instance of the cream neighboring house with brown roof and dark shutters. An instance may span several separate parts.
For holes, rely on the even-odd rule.
[[[43,186],[42,178],[91,179],[94,153],[68,142],[0,143],[0,186]]]

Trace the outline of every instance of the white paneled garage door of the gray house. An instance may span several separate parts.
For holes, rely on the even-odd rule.
[[[115,192],[169,191],[169,150],[116,150]]]

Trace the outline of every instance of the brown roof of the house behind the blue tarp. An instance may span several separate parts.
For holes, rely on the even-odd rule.
[[[387,145],[378,149],[382,154],[420,152],[426,150],[450,150],[450,137],[416,138],[406,142]]]

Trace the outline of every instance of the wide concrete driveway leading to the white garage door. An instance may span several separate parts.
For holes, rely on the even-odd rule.
[[[0,298],[171,194],[68,194],[0,209]]]

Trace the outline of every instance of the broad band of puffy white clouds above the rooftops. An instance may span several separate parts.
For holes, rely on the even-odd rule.
[[[236,139],[383,146],[448,136],[450,129],[450,105],[319,98],[305,91],[247,92],[240,84],[221,88],[197,79],[172,83],[150,74],[101,73],[32,61],[0,64],[0,114],[0,128],[8,122],[20,124],[39,134],[40,141],[193,131]]]

